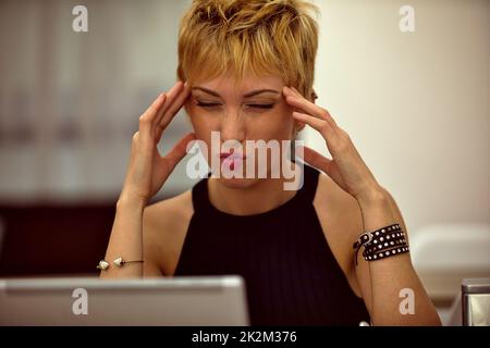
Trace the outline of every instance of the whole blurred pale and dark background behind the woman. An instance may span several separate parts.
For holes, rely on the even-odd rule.
[[[313,2],[317,103],[395,198],[442,313],[463,277],[490,276],[490,1]],[[138,116],[175,82],[189,3],[0,0],[0,277],[96,274]],[[79,4],[88,32],[72,28]],[[181,113],[160,149],[188,129]],[[192,187],[184,169],[155,200]]]

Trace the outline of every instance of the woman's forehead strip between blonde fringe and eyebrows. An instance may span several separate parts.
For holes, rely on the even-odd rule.
[[[221,96],[242,96],[256,89],[282,90],[284,82],[281,76],[272,74],[247,75],[241,82],[229,74],[219,75],[211,79],[196,79],[192,87],[205,87],[218,91]]]

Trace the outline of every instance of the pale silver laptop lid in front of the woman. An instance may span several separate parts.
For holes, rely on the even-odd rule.
[[[0,279],[0,325],[248,325],[240,276]]]

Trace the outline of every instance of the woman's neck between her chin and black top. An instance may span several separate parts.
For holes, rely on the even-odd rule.
[[[284,178],[262,178],[250,187],[231,188],[218,178],[208,179],[209,201],[218,210],[233,215],[267,212],[292,199],[295,190],[284,190]]]

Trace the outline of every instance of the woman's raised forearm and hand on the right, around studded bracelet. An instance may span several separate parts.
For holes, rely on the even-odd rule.
[[[304,160],[322,170],[340,188],[356,199],[360,208],[363,229],[347,235],[351,246],[363,232],[373,231],[393,223],[406,226],[393,198],[376,181],[360,158],[348,134],[338,126],[332,115],[323,108],[305,99],[296,89],[284,87],[286,102],[296,108],[292,117],[318,130],[332,154],[328,159],[317,151],[304,147]],[[299,153],[301,156],[301,153]],[[357,223],[356,223],[357,224]],[[351,243],[350,241],[350,243]],[[359,261],[356,268],[363,298],[376,325],[439,325],[437,312],[412,266],[408,253],[383,260]],[[415,313],[402,314],[400,290],[412,289]]]

